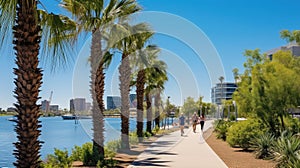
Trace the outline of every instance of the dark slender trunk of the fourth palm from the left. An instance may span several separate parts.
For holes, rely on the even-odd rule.
[[[137,95],[137,135],[139,141],[143,137],[143,113],[144,113],[144,86],[145,86],[145,70],[142,69],[138,72],[136,83],[136,95]]]

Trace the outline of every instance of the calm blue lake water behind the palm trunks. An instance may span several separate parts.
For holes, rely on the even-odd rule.
[[[11,116],[0,117],[0,167],[13,167],[15,161],[13,142],[17,141],[14,122],[7,119]],[[74,145],[81,146],[92,139],[92,120],[82,119],[79,124],[74,120],[63,120],[61,117],[41,117],[42,144],[41,155],[53,154],[54,148],[67,149],[69,153]],[[105,142],[119,139],[121,130],[120,118],[105,118]],[[130,119],[130,131],[136,129],[136,120]]]

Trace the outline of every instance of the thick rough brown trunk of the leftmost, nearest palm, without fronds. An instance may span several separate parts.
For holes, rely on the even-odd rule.
[[[41,124],[39,89],[42,84],[42,70],[38,68],[40,49],[40,31],[38,25],[36,1],[17,2],[16,26],[14,26],[14,49],[17,68],[14,73],[16,89],[14,91],[17,103],[17,133],[18,142],[14,143],[16,167],[37,168],[41,162],[40,149]]]

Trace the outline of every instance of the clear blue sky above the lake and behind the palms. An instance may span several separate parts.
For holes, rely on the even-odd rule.
[[[245,49],[259,48],[264,52],[285,45],[286,42],[280,39],[279,32],[283,29],[300,29],[300,2],[296,0],[138,2],[145,11],[154,12],[153,15],[142,13],[136,16],[136,19],[150,22],[158,32],[151,42],[162,48],[160,58],[166,61],[169,67],[170,81],[166,84],[164,96],[170,96],[171,103],[177,105],[181,105],[187,96],[204,96],[204,101],[210,101],[210,88],[217,81],[217,77],[210,74],[212,71],[224,70],[225,81],[233,81],[232,69],[238,68],[243,71]],[[52,5],[52,1],[44,3],[49,11],[61,11]],[[174,20],[176,21],[173,22]],[[195,28],[197,31],[193,32]],[[178,32],[179,35],[176,34]],[[85,97],[90,100],[88,41],[79,43],[78,56],[68,68],[50,73],[48,65],[41,65],[45,70],[40,94],[42,100],[48,99],[51,91],[54,92],[52,104],[59,104],[61,108],[69,108],[69,100],[73,97]],[[216,49],[215,53],[210,52],[212,46]],[[15,65],[10,47],[8,45],[7,50],[0,54],[0,108],[5,109],[15,102],[12,73]],[[215,66],[211,66],[211,62],[207,60],[215,63]],[[105,96],[119,94],[119,63],[120,58],[116,57],[107,71]],[[222,66],[219,63],[222,63]],[[106,98],[104,100],[106,101]]]

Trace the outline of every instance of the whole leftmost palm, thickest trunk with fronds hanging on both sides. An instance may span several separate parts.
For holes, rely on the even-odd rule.
[[[38,120],[41,114],[40,105],[37,105],[42,84],[42,69],[38,67],[40,42],[46,40],[44,43],[49,48],[45,50],[51,53],[54,63],[61,63],[61,59],[57,58],[63,54],[59,51],[69,47],[68,43],[65,43],[70,39],[67,34],[72,34],[71,32],[76,30],[75,23],[67,17],[40,11],[37,3],[36,0],[0,1],[1,47],[3,42],[11,37],[9,33],[13,32],[17,64],[17,68],[14,68],[16,75],[14,93],[17,99],[14,105],[18,113],[15,127],[18,141],[14,143],[16,167],[39,167],[41,162],[42,142],[39,140],[41,124]],[[44,28],[43,32],[41,26]]]

